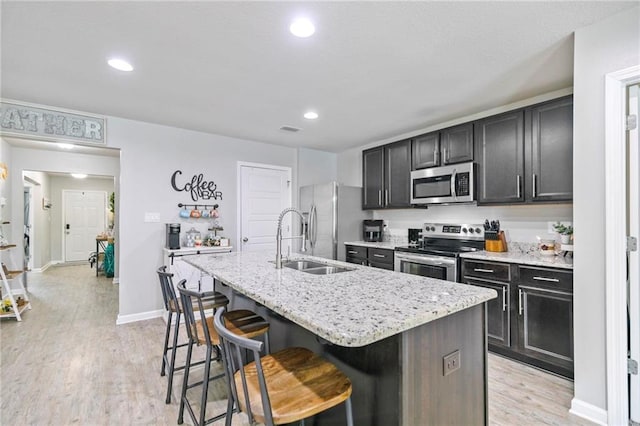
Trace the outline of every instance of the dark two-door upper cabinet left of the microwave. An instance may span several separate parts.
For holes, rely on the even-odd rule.
[[[362,152],[362,208],[411,206],[411,141]]]

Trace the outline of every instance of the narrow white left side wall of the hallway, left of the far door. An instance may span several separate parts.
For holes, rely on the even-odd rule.
[[[33,223],[30,243],[33,246],[33,268],[40,269],[51,262],[51,212],[42,208],[42,200],[51,199],[51,185],[46,173],[25,170],[23,176],[25,180],[29,180],[31,186]],[[24,212],[24,198],[22,200]],[[24,214],[21,217],[24,223]]]

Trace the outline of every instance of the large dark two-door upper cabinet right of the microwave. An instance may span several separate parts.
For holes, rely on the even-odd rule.
[[[571,201],[571,96],[475,124],[478,203]]]

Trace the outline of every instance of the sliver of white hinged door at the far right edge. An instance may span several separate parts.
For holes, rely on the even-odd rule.
[[[640,117],[640,85],[629,87],[629,115]],[[640,131],[638,125],[629,131],[629,195],[628,235],[640,237]],[[640,362],[640,252],[629,254],[629,352],[631,359]],[[631,420],[640,423],[640,374],[630,376],[629,404]]]

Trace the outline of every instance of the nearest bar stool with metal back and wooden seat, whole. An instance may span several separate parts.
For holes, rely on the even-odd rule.
[[[287,348],[260,357],[262,343],[232,333],[224,308],[216,311],[214,326],[222,342],[229,402],[226,425],[231,425],[234,400],[249,421],[280,425],[300,421],[344,402],[347,425],[353,426],[351,380],[332,363],[305,348]],[[254,362],[242,364],[242,349]]]

